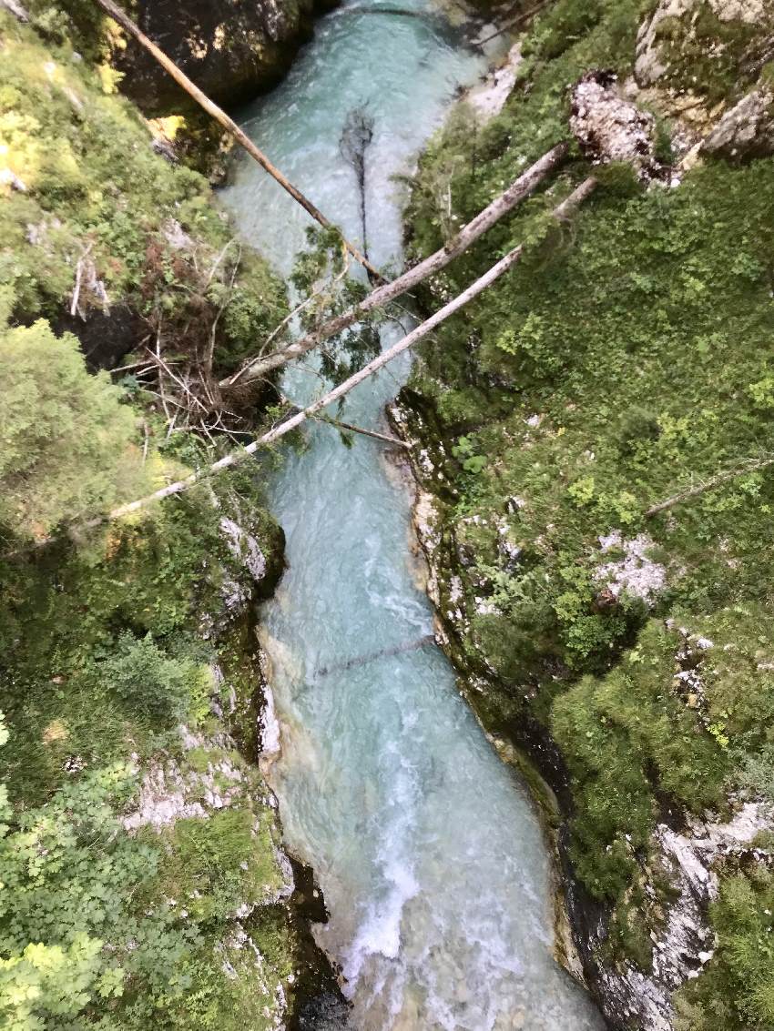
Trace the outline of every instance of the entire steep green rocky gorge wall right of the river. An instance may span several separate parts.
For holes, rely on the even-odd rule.
[[[547,781],[575,943],[616,1028],[774,1026],[772,485],[754,386],[771,339],[774,193],[755,159],[771,153],[773,13],[549,5],[502,111],[453,112],[409,205],[424,257],[584,122],[531,211],[426,290],[434,309],[528,241],[511,281],[423,346],[392,420],[414,441],[441,640],[504,754],[513,742]],[[600,161],[632,105],[645,189],[624,155]],[[548,228],[544,206],[589,172],[594,199]],[[647,514],[735,466],[724,491]]]

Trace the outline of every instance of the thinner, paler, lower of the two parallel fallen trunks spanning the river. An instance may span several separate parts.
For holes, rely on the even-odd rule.
[[[596,180],[593,177],[585,179],[573,193],[562,201],[553,210],[553,217],[558,221],[563,221],[568,219],[578,207],[579,204],[585,200],[586,197],[593,191],[596,186]],[[354,375],[350,376],[338,387],[334,387],[333,390],[329,391],[323,397],[319,398],[313,404],[308,407],[302,408],[300,411],[295,412],[289,419],[284,420],[277,426],[272,427],[267,433],[258,437],[247,447],[241,447],[239,451],[231,452],[224,458],[220,459],[218,462],[214,462],[213,465],[207,466],[205,469],[200,469],[197,472],[192,472],[190,476],[186,476],[184,479],[179,479],[174,484],[169,484],[167,487],[161,488],[159,491],[155,491],[153,494],[149,494],[148,497],[139,498],[137,501],[132,501],[129,504],[121,505],[118,508],[114,508],[111,512],[105,517],[106,520],[114,521],[122,519],[125,516],[129,516],[132,512],[139,511],[141,508],[147,508],[149,505],[153,504],[155,501],[161,501],[163,498],[171,497],[174,494],[182,494],[183,491],[188,490],[189,487],[193,487],[194,484],[198,484],[202,479],[206,479],[215,473],[221,472],[224,469],[229,469],[232,466],[237,465],[237,463],[254,455],[260,447],[264,447],[268,444],[275,443],[281,437],[290,433],[292,430],[297,429],[302,423],[308,419],[313,418],[318,411],[326,408],[329,404],[333,404],[341,398],[345,397],[350,391],[354,390],[355,387],[363,383],[369,376],[373,376],[375,372],[384,368],[385,365],[389,364],[398,355],[404,354],[410,347],[419,343],[428,336],[437,326],[445,322],[450,315],[454,314],[455,311],[459,311],[460,308],[469,304],[474,298],[482,294],[487,287],[490,287],[495,280],[497,280],[502,275],[513,268],[513,266],[519,261],[524,251],[524,245],[520,243],[513,251],[509,252],[502,258],[496,265],[493,265],[487,272],[485,272],[480,278],[478,278],[474,284],[472,284],[466,290],[461,294],[458,294],[453,300],[449,301],[440,308],[434,314],[430,315],[429,319],[417,326],[416,329],[412,330],[407,336],[398,340],[387,351],[382,352],[373,361],[368,362],[361,369],[355,372]],[[98,526],[100,523],[104,522],[105,519],[94,520],[89,526]]]

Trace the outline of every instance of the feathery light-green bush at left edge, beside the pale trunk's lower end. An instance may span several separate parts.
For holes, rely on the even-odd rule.
[[[0,331],[0,521],[13,532],[44,536],[143,492],[135,417],[73,336],[44,322]]]

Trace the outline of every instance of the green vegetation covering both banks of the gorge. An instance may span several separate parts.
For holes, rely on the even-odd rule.
[[[531,196],[413,285],[438,311],[519,248],[433,325],[401,410],[431,463],[415,454],[439,606],[479,713],[504,734],[528,718],[560,753],[573,876],[604,916],[598,969],[654,970],[677,894],[659,828],[696,836],[774,803],[774,15],[759,6],[696,0],[657,23],[664,70],[635,91],[655,181],[569,131],[582,76],[632,81],[655,0],[545,5],[502,112],[455,106],[407,179],[420,261],[561,144]],[[0,1021],[275,1027],[300,942],[251,761],[246,568],[260,556],[264,591],[282,568],[271,454],[101,520],[292,414],[275,378],[299,357],[287,287],[215,203],[200,125],[149,123],[121,94],[115,23],[86,0],[33,0],[29,21],[7,7]],[[703,149],[751,91],[768,98],[755,145]],[[310,350],[368,289],[335,231],[313,243],[294,275]],[[341,384],[373,360],[382,317],[323,371]],[[278,329],[281,359],[236,389]],[[160,795],[176,821],[154,816]],[[712,947],[675,1031],[774,1028],[773,842],[762,824],[713,858]]]

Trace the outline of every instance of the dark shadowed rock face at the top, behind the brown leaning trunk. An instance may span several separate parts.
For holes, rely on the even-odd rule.
[[[221,104],[251,99],[278,81],[310,33],[316,8],[335,0],[139,0],[143,32]],[[138,44],[118,61],[122,85],[149,114],[192,101]]]

